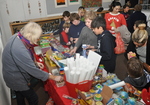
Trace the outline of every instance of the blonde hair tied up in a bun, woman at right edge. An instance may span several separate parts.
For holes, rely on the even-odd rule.
[[[132,41],[145,44],[148,39],[148,33],[145,30],[146,24],[139,24],[138,28],[132,34]]]

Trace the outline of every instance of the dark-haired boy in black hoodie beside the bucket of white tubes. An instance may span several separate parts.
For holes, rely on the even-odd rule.
[[[116,66],[116,54],[114,48],[116,47],[115,37],[106,30],[106,22],[102,17],[96,17],[92,23],[91,28],[97,35],[97,49],[93,49],[102,56],[100,64],[104,65],[107,72],[113,73]],[[89,46],[90,48],[92,46]]]

